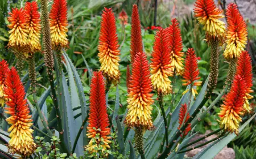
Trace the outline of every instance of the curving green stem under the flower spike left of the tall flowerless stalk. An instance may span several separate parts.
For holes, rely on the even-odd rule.
[[[46,128],[47,133],[50,136],[53,136],[51,130],[49,130],[49,127],[47,126],[46,120],[43,117],[42,111],[39,108],[38,100],[36,97],[36,70],[35,70],[35,56],[34,55],[32,55],[32,57],[28,61],[28,73],[30,76],[31,89],[32,89],[31,91],[33,94],[33,100],[35,102],[36,111],[38,111],[39,118],[40,118],[41,122],[43,123],[44,128]]]

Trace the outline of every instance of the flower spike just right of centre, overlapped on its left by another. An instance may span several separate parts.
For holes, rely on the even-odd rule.
[[[178,75],[182,75],[184,68],[183,68],[183,55],[184,53],[181,52],[182,46],[182,39],[181,33],[179,28],[179,23],[177,19],[171,20],[172,24],[169,27],[169,36],[170,36],[170,47],[171,47],[171,66],[172,69],[175,69]]]

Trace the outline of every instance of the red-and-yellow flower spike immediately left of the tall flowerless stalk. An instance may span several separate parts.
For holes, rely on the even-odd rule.
[[[41,20],[38,11],[38,4],[33,2],[26,2],[24,10],[27,15],[28,23],[28,46],[30,46],[31,53],[41,50],[40,44],[40,31],[41,31]],[[28,56],[28,55],[26,55]]]

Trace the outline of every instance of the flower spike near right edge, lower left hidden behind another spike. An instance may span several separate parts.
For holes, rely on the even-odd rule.
[[[253,96],[250,93],[254,92],[251,87],[253,87],[253,68],[251,66],[251,57],[247,51],[242,51],[240,58],[238,58],[237,62],[237,74],[243,76],[246,82],[246,93],[245,93],[245,104],[243,108],[250,113],[251,107],[249,104],[250,99]]]

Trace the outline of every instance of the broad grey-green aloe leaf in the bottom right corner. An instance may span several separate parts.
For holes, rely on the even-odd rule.
[[[250,123],[250,121],[255,117],[255,115],[256,113],[250,119],[248,119],[245,123],[242,124],[242,126],[239,128],[239,132],[241,132],[243,128],[245,128],[247,124]],[[212,147],[210,147],[207,151],[200,152],[200,155],[193,157],[193,159],[214,158],[236,136],[237,136],[236,134],[232,133],[226,137],[222,137],[220,141],[213,144]]]

